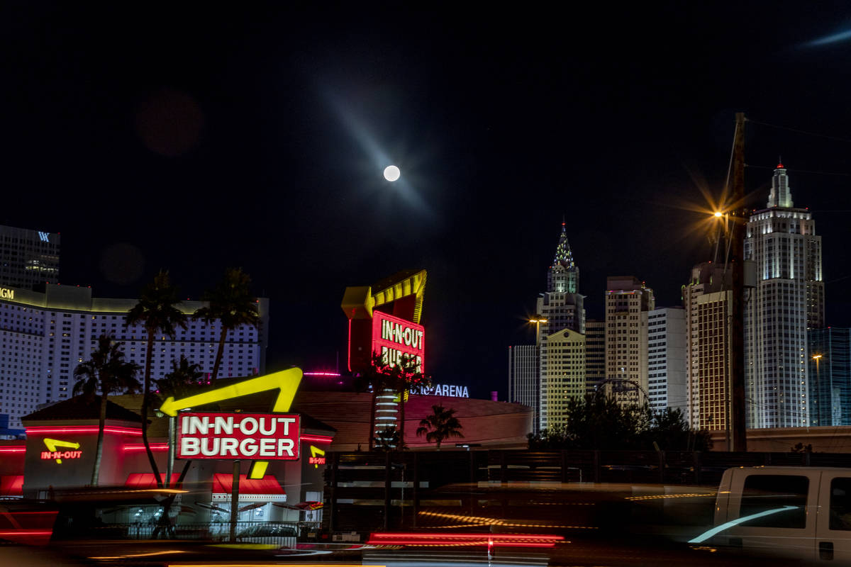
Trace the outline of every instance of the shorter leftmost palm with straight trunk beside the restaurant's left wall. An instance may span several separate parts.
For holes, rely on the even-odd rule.
[[[136,372],[139,366],[132,362],[123,360],[124,353],[120,345],[111,337],[101,335],[98,338],[98,349],[92,353],[89,360],[77,365],[74,369],[74,395],[83,394],[89,400],[94,401],[94,394],[100,390],[100,416],[98,417],[98,445],[94,455],[94,468],[92,468],[92,486],[98,485],[100,474],[100,460],[103,456],[104,427],[106,426],[106,402],[111,392],[134,392],[139,389],[139,381]],[[142,422],[146,418],[142,416]]]

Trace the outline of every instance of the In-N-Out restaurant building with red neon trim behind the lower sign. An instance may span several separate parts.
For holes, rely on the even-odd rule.
[[[300,371],[295,372],[300,375]],[[256,380],[248,380],[251,379]],[[243,378],[242,383],[245,382],[247,379]],[[224,380],[220,380],[220,384],[222,387],[227,385]],[[264,461],[267,463],[266,470],[255,474],[259,477],[256,479],[250,478],[252,464],[256,460],[243,458],[240,461],[238,505],[242,512],[239,520],[320,521],[322,510],[313,508],[323,500],[324,455],[334,438],[334,428],[303,413],[271,414],[270,408],[276,397],[275,392],[261,392],[221,400],[214,406],[215,415],[225,417],[220,423],[232,423],[236,418],[238,428],[239,420],[243,420],[246,432],[243,437],[254,439],[243,443],[243,455],[253,453],[256,459],[266,451],[270,456]],[[99,487],[126,490],[157,487],[142,443],[140,405],[140,395],[110,397]],[[201,409],[204,408],[199,407],[197,411]],[[4,441],[0,445],[0,496],[52,499],[90,486],[99,412],[100,400],[86,403],[82,397],[77,397],[24,417],[26,440]],[[179,413],[176,418],[181,434],[190,429],[190,415],[200,414]],[[288,422],[282,423],[285,420]],[[238,445],[234,451],[228,451],[224,438],[216,439],[213,418],[208,421],[208,431],[195,427],[196,439],[186,439],[182,443],[181,439],[186,435],[177,439],[177,456],[180,456],[181,448],[194,453],[190,458],[174,460],[173,482],[179,478],[185,463],[190,465],[181,486],[186,493],[177,496],[178,505],[173,507],[172,515],[176,524],[209,523],[211,527],[220,524],[220,530],[226,531],[231,510],[234,455],[239,451]],[[272,428],[275,421],[278,422],[277,431]],[[195,425],[200,422],[197,419]],[[248,422],[252,423],[251,430]],[[288,458],[278,460],[273,453],[279,445],[278,438],[285,437],[282,425],[290,429],[286,432],[289,445],[283,447]],[[232,428],[230,431],[235,437],[239,435]],[[226,430],[223,435],[227,433]],[[168,461],[168,416],[151,418],[148,437],[164,478]],[[264,437],[276,439],[268,439],[265,445],[261,445]],[[283,444],[282,440],[280,445]],[[203,454],[201,449],[208,454]],[[84,491],[81,490],[81,493]],[[110,510],[101,516],[105,524],[152,524],[157,519],[159,507],[112,506]]]

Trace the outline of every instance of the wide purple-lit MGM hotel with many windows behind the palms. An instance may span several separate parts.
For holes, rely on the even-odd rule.
[[[71,398],[74,369],[89,360],[101,335],[123,345],[125,360],[145,366],[147,335],[143,326],[126,326],[136,299],[93,298],[89,287],[48,284],[44,292],[0,287],[0,414],[9,428],[20,429],[20,417],[40,405]],[[191,315],[205,303],[179,304]],[[266,370],[269,300],[258,299],[260,331],[240,326],[228,333],[219,377],[240,377]],[[190,319],[172,340],[154,342],[151,377],[172,370],[171,361],[186,356],[201,371],[212,372],[220,327]]]

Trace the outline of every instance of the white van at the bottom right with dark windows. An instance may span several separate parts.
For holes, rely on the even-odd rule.
[[[714,527],[691,543],[851,563],[851,468],[729,468]]]

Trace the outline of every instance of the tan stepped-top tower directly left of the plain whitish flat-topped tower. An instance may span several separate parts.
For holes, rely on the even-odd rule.
[[[606,391],[624,404],[643,404],[648,392],[648,311],[653,290],[631,275],[606,278]]]

